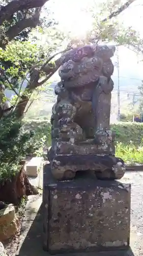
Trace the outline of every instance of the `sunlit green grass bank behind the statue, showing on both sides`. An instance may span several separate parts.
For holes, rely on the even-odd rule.
[[[33,129],[39,143],[43,138],[46,148],[51,145],[49,120],[26,120],[26,129]],[[143,124],[120,122],[111,124],[111,130],[116,132],[116,156],[127,164],[143,163]]]

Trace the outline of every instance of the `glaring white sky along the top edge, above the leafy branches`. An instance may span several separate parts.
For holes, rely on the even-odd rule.
[[[105,3],[109,0],[50,0],[46,6],[53,11],[56,19],[59,20],[60,26],[65,30],[80,33],[86,31],[92,24],[92,19],[89,14],[88,8],[90,6],[95,8],[95,13],[98,11],[99,4]],[[112,1],[112,0],[111,0]],[[121,0],[125,3],[127,0]],[[132,26],[139,30],[143,35],[142,22],[143,22],[143,4],[142,0],[136,0],[128,9],[120,14],[120,19],[123,20],[127,26]]]

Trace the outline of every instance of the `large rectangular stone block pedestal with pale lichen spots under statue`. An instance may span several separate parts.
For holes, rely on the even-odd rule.
[[[78,173],[56,181],[44,167],[44,249],[49,253],[126,249],[130,238],[130,184]]]

